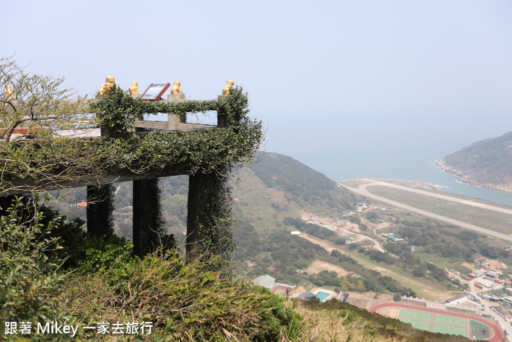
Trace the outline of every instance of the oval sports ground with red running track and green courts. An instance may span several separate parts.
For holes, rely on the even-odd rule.
[[[397,309],[399,309],[398,313]],[[372,306],[369,311],[379,312],[378,310],[383,310],[386,314],[394,311],[393,316],[396,315],[396,318],[402,322],[409,323],[414,328],[431,332],[485,339],[493,342],[500,341],[503,336],[501,329],[480,317],[398,303],[378,304]]]

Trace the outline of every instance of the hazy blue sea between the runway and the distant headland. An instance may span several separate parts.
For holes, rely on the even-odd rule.
[[[291,157],[332,180],[357,177],[420,180],[442,186],[442,191],[481,198],[512,206],[512,192],[486,189],[460,182],[460,178],[435,165],[447,153],[403,148],[392,151],[364,149],[360,151],[295,152]]]

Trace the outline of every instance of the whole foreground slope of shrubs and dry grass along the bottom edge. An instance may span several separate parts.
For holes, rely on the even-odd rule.
[[[146,330],[129,340],[307,341],[378,336],[416,341],[422,340],[418,336],[441,337],[347,304],[285,300],[246,281],[221,277],[215,271],[215,257],[206,263],[184,264],[178,253],[170,251],[156,251],[142,260],[121,250],[113,253],[115,258],[82,253],[79,264],[99,262],[101,267],[84,274],[65,273],[57,253],[59,242],[45,238],[65,223],[54,218],[44,224],[46,209],[37,197],[31,203],[17,199],[2,216],[0,246],[7,261],[0,266],[2,326],[7,320],[22,319],[33,326],[49,320],[78,326],[73,337],[33,331],[30,339],[34,341],[103,340],[103,335],[83,329],[102,321],[146,326],[151,322],[151,334]],[[28,213],[34,214],[30,221]],[[333,329],[334,334],[324,335]]]

